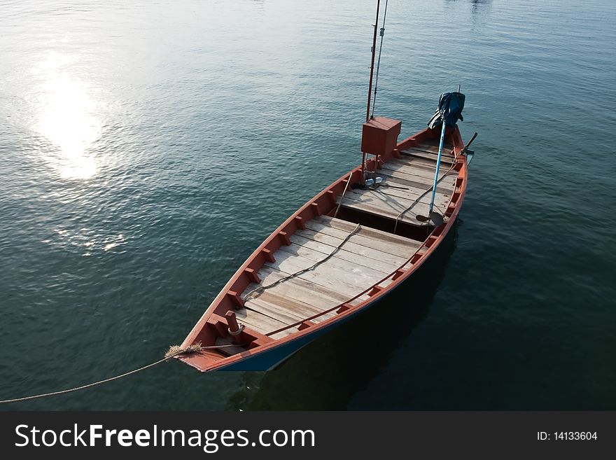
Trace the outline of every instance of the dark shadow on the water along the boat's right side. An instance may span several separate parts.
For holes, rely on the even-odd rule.
[[[246,388],[230,399],[232,409],[344,410],[427,316],[456,247],[458,222],[414,276],[386,298],[274,370],[246,372]]]

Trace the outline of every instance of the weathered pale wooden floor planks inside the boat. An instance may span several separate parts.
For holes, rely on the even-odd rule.
[[[441,214],[457,176],[454,157],[445,151],[451,146],[444,148],[436,189],[435,208]],[[428,215],[437,146],[426,143],[400,153],[377,171],[383,179],[379,186],[349,188],[338,197],[342,204],[336,217],[331,211],[331,216],[312,218],[272,254],[274,261],[258,270],[260,282],[240,295],[239,323],[273,339],[297,333],[302,323],[335,316],[335,307],[344,302],[369,298],[367,289],[386,286],[393,281],[389,275],[412,265],[409,259],[428,233],[428,223],[416,216]]]

